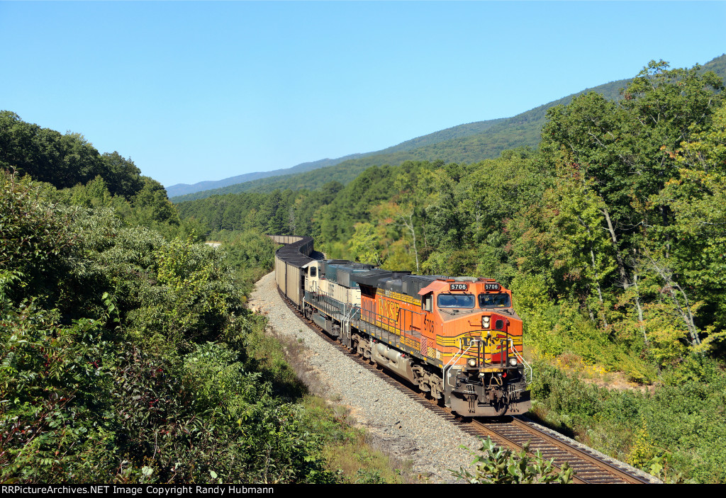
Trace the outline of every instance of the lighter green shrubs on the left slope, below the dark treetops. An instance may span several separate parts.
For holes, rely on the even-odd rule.
[[[247,366],[224,251],[1,180],[0,481],[333,480],[301,407]]]

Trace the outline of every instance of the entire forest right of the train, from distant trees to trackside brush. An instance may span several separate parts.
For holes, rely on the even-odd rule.
[[[497,278],[537,361],[535,415],[666,480],[725,482],[723,86],[651,62],[618,101],[547,111],[537,151],[178,207],[208,230],[311,235],[329,257]],[[596,385],[617,379],[649,387]]]

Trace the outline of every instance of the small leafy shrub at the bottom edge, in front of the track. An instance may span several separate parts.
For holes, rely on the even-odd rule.
[[[462,447],[468,449],[467,447]],[[544,461],[539,450],[534,457],[527,455],[529,443],[523,444],[521,451],[515,453],[511,449],[497,447],[492,439],[481,440],[481,448],[474,455],[472,465],[476,470],[472,474],[465,468],[450,470],[452,476],[464,479],[469,484],[571,484],[574,472],[565,462],[557,472],[553,460]]]

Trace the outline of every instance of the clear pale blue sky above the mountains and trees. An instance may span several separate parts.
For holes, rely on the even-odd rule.
[[[0,110],[197,183],[703,64],[725,21],[726,1],[0,1]]]

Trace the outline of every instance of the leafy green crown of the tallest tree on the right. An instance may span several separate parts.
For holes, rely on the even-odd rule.
[[[565,149],[585,178],[592,178],[592,188],[605,202],[603,217],[625,281],[622,254],[635,243],[631,239],[639,227],[671,221],[667,206],[648,204],[677,175],[669,151],[709,127],[723,98],[715,93],[721,88],[716,75],[701,75],[698,66],[669,70],[665,62],[651,61],[622,91],[618,104],[590,93],[547,114],[542,149],[551,160]]]

